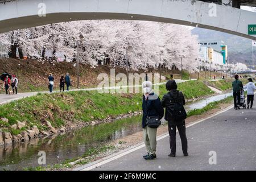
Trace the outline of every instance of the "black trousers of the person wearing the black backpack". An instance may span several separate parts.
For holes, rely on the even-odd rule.
[[[188,154],[188,140],[187,140],[187,136],[186,136],[185,123],[181,123],[180,125],[174,125],[174,124],[168,122],[171,154],[173,154],[173,155],[176,154],[176,127],[179,131],[183,154],[186,155],[186,154]]]

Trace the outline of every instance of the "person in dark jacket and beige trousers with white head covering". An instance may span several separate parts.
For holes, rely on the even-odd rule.
[[[144,81],[143,87],[143,101],[142,101],[142,127],[143,127],[143,140],[146,146],[147,155],[143,158],[151,160],[156,158],[156,131],[157,128],[151,128],[146,125],[147,117],[163,118],[164,110],[161,105],[159,97],[152,90],[152,83],[150,81]]]

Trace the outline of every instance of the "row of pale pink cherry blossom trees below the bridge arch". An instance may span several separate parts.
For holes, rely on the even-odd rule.
[[[129,69],[158,68],[173,64],[192,71],[199,57],[197,37],[184,26],[169,23],[131,20],[82,20],[26,28],[0,35],[6,46],[16,43],[23,54],[37,59],[44,58],[44,51],[51,50],[65,55],[67,61],[76,59],[77,40],[80,33],[84,40],[79,44],[80,61],[96,67],[99,61],[110,57],[112,66]],[[127,53],[127,57],[126,57]],[[128,62],[127,62],[128,60]]]

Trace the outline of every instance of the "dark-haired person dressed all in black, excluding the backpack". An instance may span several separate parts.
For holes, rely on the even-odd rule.
[[[186,127],[185,119],[181,121],[176,121],[172,117],[172,109],[175,105],[175,101],[179,102],[182,105],[185,105],[185,98],[182,92],[177,90],[177,84],[175,80],[169,80],[166,83],[166,89],[169,91],[167,94],[164,94],[162,98],[162,106],[166,107],[166,113],[164,119],[168,121],[168,131],[170,135],[170,148],[171,153],[168,156],[175,157],[176,155],[176,127],[179,131],[182,151],[184,156],[188,156],[188,141],[186,136]]]

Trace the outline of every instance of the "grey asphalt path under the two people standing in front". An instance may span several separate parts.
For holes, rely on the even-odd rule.
[[[155,160],[144,160],[142,147],[93,170],[256,170],[256,109],[232,108],[187,127],[187,157],[181,151],[178,133],[176,138],[175,158],[167,156],[169,138],[165,137],[158,141]],[[209,164],[210,151],[216,152],[216,164]]]

